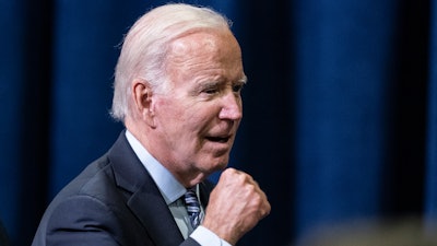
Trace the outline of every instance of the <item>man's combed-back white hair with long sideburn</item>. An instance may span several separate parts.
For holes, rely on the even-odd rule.
[[[173,40],[198,30],[229,27],[231,22],[212,9],[185,3],[165,4],[142,15],[126,35],[121,47],[115,70],[111,116],[125,121],[131,114],[130,86],[134,79],[146,81],[154,92],[165,90],[165,61]]]

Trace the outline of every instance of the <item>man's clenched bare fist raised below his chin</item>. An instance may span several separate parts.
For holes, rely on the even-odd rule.
[[[235,245],[270,209],[265,194],[250,175],[227,168],[210,195],[202,225]]]

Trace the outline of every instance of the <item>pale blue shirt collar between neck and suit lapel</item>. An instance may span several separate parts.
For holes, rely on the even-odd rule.
[[[133,152],[140,159],[141,163],[152,176],[157,188],[163,195],[165,202],[170,204],[179,199],[185,192],[186,188],[166,169],[149,151],[141,144],[141,142],[129,131],[126,130],[126,138],[132,147]]]

